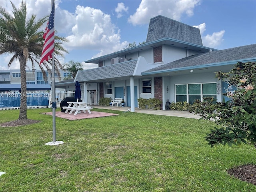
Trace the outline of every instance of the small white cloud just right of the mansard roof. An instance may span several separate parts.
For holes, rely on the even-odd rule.
[[[202,37],[203,45],[207,47],[217,47],[220,45],[224,39],[225,30],[221,30],[220,32],[214,32],[212,35],[206,35]]]

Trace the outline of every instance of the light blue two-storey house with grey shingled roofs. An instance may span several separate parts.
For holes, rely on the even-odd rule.
[[[248,61],[256,61],[256,44],[209,48],[202,45],[198,28],[159,15],[150,19],[145,44],[86,61],[98,68],[79,71],[72,85],[78,80],[82,90],[95,90],[99,98],[124,98],[132,112],[138,98],[158,98],[162,106],[205,96],[222,101],[228,84],[214,72],[229,72],[237,62]],[[56,88],[63,85],[58,82]]]

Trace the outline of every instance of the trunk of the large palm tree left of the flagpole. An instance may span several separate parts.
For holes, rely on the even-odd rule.
[[[27,119],[27,84],[26,84],[26,60],[24,57],[19,58],[20,61],[20,116],[19,119]]]

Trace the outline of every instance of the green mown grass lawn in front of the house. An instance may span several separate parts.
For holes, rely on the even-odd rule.
[[[59,110],[59,109],[58,109]],[[94,109],[118,116],[84,120],[28,110],[40,123],[0,128],[1,192],[254,192],[226,170],[256,164],[253,146],[210,148],[204,136],[213,122]],[[0,111],[0,122],[18,119]]]

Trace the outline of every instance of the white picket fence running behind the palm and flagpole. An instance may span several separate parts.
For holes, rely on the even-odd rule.
[[[60,102],[66,97],[74,97],[74,91],[56,92],[56,104],[60,107]],[[82,100],[84,100],[84,91],[81,91]],[[18,92],[0,93],[0,110],[20,109],[20,98],[22,95]],[[51,108],[52,92],[27,92],[27,108]],[[88,91],[87,101],[90,106],[98,105],[98,92]]]

